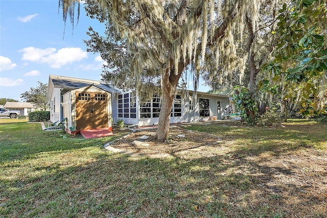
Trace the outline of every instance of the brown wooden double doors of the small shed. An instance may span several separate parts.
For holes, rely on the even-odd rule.
[[[76,92],[76,129],[108,127],[108,94]]]

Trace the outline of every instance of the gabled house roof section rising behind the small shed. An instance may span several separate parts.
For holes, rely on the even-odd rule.
[[[67,76],[49,75],[48,98],[49,98],[49,94],[50,94],[50,92],[52,92],[53,88],[60,88],[63,90],[76,90],[76,89],[83,88],[83,87],[86,87],[89,85],[94,85],[97,88],[102,89],[106,92],[120,93],[119,90],[114,89],[111,85],[107,84],[104,81],[80,79],[80,78],[67,77]]]

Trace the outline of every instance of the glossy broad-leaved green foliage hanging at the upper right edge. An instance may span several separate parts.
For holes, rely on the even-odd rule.
[[[271,91],[278,83],[283,97],[298,103],[302,116],[316,116],[327,102],[327,1],[292,0],[278,12],[279,43],[266,68],[271,78],[260,86]]]

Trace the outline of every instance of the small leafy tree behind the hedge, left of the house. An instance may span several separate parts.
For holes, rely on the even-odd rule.
[[[49,105],[48,95],[48,84],[43,84],[38,81],[38,86],[36,88],[31,88],[30,91],[22,93],[20,97],[25,99],[26,102],[33,103],[36,107],[43,108],[46,110]]]

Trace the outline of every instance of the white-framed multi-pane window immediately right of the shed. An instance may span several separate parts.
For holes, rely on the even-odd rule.
[[[118,95],[118,117],[136,118],[136,98],[132,93]]]

